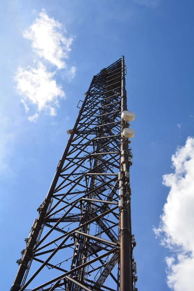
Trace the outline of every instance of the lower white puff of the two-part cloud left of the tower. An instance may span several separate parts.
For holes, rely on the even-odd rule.
[[[18,67],[15,76],[16,92],[22,97],[25,108],[26,103],[30,103],[36,105],[38,111],[49,110],[50,115],[56,115],[55,107],[59,104],[59,98],[65,97],[65,93],[52,79],[54,74],[55,72],[48,72],[41,62],[37,67],[28,69]]]

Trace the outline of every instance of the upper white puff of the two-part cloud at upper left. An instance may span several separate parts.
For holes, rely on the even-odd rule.
[[[50,18],[43,9],[33,24],[23,32],[23,37],[32,41],[34,53],[58,69],[66,67],[64,59],[69,57],[73,37],[66,37],[59,21]]]

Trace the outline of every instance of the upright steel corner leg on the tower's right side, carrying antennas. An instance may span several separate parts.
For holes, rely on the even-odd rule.
[[[121,81],[121,113],[127,110],[127,95],[125,89],[125,61],[122,56]],[[131,232],[130,232],[130,194],[129,194],[129,161],[128,139],[122,135],[127,122],[121,119],[121,190],[119,195],[120,212],[120,291],[132,290],[131,278]],[[125,165],[125,166],[124,166]]]

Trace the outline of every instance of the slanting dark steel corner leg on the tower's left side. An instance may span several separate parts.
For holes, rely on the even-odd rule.
[[[34,246],[36,244],[36,241],[37,241],[39,232],[40,232],[41,227],[42,227],[42,225],[44,223],[45,214],[47,213],[47,210],[49,208],[49,204],[50,204],[50,200],[51,200],[53,191],[54,191],[54,189],[55,189],[55,187],[57,185],[57,181],[59,179],[61,170],[63,168],[66,155],[68,153],[69,147],[71,146],[71,142],[73,140],[73,137],[74,137],[74,134],[75,134],[75,130],[77,129],[78,123],[80,121],[81,113],[82,113],[82,111],[84,109],[84,106],[85,106],[85,103],[86,103],[88,94],[90,92],[90,89],[92,88],[92,84],[93,84],[94,78],[95,77],[93,77],[92,82],[90,84],[90,87],[89,87],[89,89],[87,91],[87,94],[85,96],[85,99],[84,99],[84,101],[82,103],[81,110],[80,110],[80,112],[78,114],[78,118],[77,118],[77,120],[75,122],[74,128],[71,131],[71,135],[70,135],[69,140],[67,142],[67,145],[65,147],[65,151],[64,151],[64,153],[62,155],[62,158],[59,161],[59,164],[57,166],[57,169],[56,169],[54,178],[52,180],[52,183],[50,185],[50,188],[49,188],[49,192],[47,194],[47,197],[45,198],[45,200],[44,200],[44,202],[43,202],[43,204],[41,206],[41,209],[39,211],[39,216],[37,218],[37,221],[36,221],[35,225],[33,225],[31,237],[29,238],[29,242],[27,242],[27,246],[25,248],[24,254],[23,254],[22,259],[21,259],[21,264],[19,265],[19,268],[18,268],[16,277],[15,277],[14,283],[13,283],[10,291],[19,291],[21,282],[22,282],[23,277],[25,275],[25,272],[26,272],[26,270],[28,268],[28,263],[32,259],[32,250],[33,250],[33,248],[34,248]]]

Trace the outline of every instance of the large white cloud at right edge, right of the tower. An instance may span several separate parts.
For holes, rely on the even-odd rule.
[[[162,245],[174,254],[166,258],[167,284],[174,291],[194,286],[194,138],[188,137],[172,156],[174,173],[163,176],[170,188],[159,228]]]

